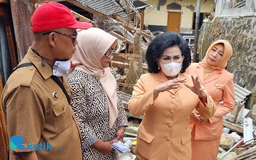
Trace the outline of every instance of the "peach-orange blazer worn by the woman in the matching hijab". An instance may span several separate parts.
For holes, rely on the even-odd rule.
[[[204,81],[204,68],[199,63],[192,63],[186,70],[186,74],[198,76],[201,84],[212,96],[216,112],[209,122],[203,125],[194,119],[189,120],[189,128],[195,125],[195,140],[214,140],[223,133],[222,117],[235,108],[234,75],[227,70],[214,70]],[[223,99],[223,105],[219,105]]]

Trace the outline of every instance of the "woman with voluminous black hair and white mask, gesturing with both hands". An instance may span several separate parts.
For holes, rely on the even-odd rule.
[[[135,149],[137,160],[190,160],[189,115],[196,108],[202,117],[211,118],[215,103],[198,77],[183,74],[191,56],[181,35],[158,35],[148,46],[146,61],[149,73],[134,85],[128,103],[131,114],[144,114]]]

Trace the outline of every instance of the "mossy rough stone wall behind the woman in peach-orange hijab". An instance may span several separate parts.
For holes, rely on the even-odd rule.
[[[204,23],[198,38],[201,52]],[[234,74],[234,83],[252,92],[247,107],[252,109],[256,99],[256,16],[217,17],[207,23],[204,33],[202,57],[212,42],[224,39],[233,47],[233,55],[228,61],[227,70]]]

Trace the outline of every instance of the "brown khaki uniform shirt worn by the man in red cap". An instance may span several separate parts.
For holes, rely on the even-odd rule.
[[[52,68],[47,63],[42,66],[42,59],[31,48],[20,64],[30,62],[35,67],[17,69],[3,89],[9,140],[12,136],[24,137],[21,143],[24,149],[14,151],[36,150],[39,160],[82,160],[79,125],[65,94],[50,78]],[[60,80],[71,97],[66,79]],[[58,98],[54,99],[53,93],[58,93]],[[10,160],[14,160],[11,151]]]

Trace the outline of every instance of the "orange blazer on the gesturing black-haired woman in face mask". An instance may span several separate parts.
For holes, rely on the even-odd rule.
[[[201,116],[210,118],[216,110],[215,103],[207,93],[207,106],[184,83],[193,86],[191,76],[186,77],[180,88],[159,93],[153,100],[154,87],[168,81],[162,71],[143,74],[134,85],[128,108],[134,116],[143,116],[135,149],[139,160],[190,160],[191,134],[190,113],[197,108]]]

